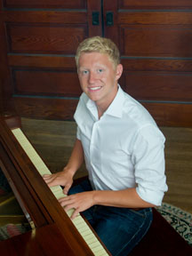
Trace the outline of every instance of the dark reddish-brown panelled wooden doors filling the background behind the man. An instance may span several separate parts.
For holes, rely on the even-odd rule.
[[[85,37],[99,35],[119,46],[120,84],[157,124],[192,125],[191,1],[0,3],[4,114],[71,120],[81,94],[76,47]]]

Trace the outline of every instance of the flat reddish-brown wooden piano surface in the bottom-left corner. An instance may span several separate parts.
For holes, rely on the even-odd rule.
[[[55,224],[36,228],[25,235],[14,236],[1,242],[0,247],[2,255],[6,256],[61,256],[63,253],[68,256],[75,255]]]

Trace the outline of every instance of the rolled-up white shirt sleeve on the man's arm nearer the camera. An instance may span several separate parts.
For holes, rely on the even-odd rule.
[[[132,149],[136,191],[150,204],[161,205],[167,191],[164,161],[164,135],[153,125],[137,132]]]

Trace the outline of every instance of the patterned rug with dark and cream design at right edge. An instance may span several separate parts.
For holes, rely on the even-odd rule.
[[[173,228],[192,246],[192,214],[172,204],[163,203],[156,210],[162,214]]]

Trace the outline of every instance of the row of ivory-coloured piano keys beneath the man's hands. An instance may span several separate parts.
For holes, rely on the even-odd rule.
[[[24,149],[26,154],[28,155],[31,162],[35,165],[36,170],[43,176],[44,174],[52,174],[47,166],[44,164],[41,157],[36,153],[35,148],[30,144],[27,137],[20,130],[20,128],[12,130],[15,138],[19,141],[20,146]],[[59,199],[60,197],[65,196],[62,192],[62,188],[60,186],[55,186],[51,188],[53,195]],[[71,216],[73,209],[69,210],[68,217]],[[108,252],[103,248],[100,244],[98,238],[92,233],[92,229],[87,225],[80,214],[74,220],[71,220],[78,232],[83,236],[84,241],[88,244],[93,254],[96,256],[105,256],[108,255]]]

